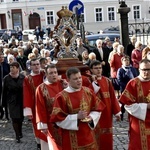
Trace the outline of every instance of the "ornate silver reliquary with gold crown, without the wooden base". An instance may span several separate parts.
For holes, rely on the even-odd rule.
[[[54,27],[53,38],[58,42],[59,48],[56,49],[57,58],[77,58],[75,50],[75,40],[77,38],[76,25],[72,20],[73,12],[65,6],[57,12],[59,17],[57,25]]]

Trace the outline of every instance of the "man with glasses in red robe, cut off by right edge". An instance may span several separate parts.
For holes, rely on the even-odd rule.
[[[139,73],[120,97],[129,114],[128,150],[150,149],[150,60],[141,60]]]

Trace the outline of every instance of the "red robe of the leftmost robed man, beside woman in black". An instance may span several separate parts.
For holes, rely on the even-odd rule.
[[[35,90],[38,85],[43,83],[44,78],[44,72],[41,72],[38,75],[28,75],[24,79],[23,83],[23,99],[24,99],[24,108],[28,107],[32,110],[32,124],[35,132],[35,136],[38,138],[41,138],[43,140],[46,139],[45,135],[40,131],[37,130],[37,124],[36,124],[36,115],[35,115]]]

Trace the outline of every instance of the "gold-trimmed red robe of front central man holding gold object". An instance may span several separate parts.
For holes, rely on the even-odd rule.
[[[102,111],[105,105],[89,88],[82,87],[80,91],[69,93],[65,90],[56,95],[51,122],[61,122],[68,115],[77,114],[79,110]],[[73,123],[73,122],[72,122]],[[94,130],[88,123],[78,120],[78,130],[62,129],[63,150],[97,150]]]

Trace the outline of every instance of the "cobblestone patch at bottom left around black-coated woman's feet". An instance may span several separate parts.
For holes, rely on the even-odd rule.
[[[21,143],[16,143],[12,124],[0,120],[0,150],[36,150],[31,122],[24,122],[23,138]]]

